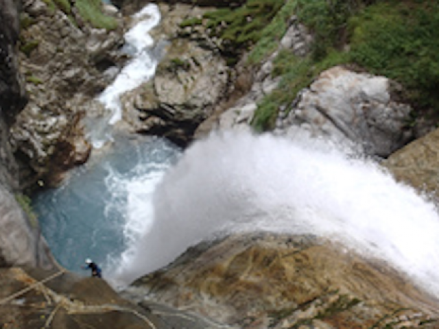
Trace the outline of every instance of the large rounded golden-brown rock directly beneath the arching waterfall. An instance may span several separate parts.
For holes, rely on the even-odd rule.
[[[437,328],[439,315],[438,300],[389,265],[315,236],[203,243],[126,293],[241,329]]]

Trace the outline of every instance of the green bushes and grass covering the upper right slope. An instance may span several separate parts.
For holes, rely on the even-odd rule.
[[[252,125],[257,131],[274,127],[278,109],[296,98],[323,70],[337,64],[353,64],[401,83],[405,97],[416,110],[438,108],[439,94],[439,3],[438,1],[292,0],[285,1],[289,13],[296,14],[313,33],[307,58],[281,51],[274,62],[274,75],[281,84],[259,103]],[[274,29],[278,21],[265,28]],[[270,53],[270,41],[263,38],[258,62]],[[348,47],[346,47],[348,45]]]

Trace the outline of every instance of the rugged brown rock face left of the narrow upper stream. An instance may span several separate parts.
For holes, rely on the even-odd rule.
[[[110,83],[122,60],[123,23],[95,29],[78,11],[64,12],[51,1],[23,1],[20,70],[29,103],[12,127],[12,145],[21,164],[22,186],[36,180],[56,184],[63,171],[88,158],[81,117],[88,101]],[[117,13],[113,13],[117,15]]]

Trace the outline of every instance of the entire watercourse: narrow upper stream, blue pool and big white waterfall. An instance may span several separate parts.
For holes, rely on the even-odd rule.
[[[114,138],[106,129],[121,119],[120,95],[154,74],[147,31],[160,14],[148,5],[134,19],[145,15],[126,35],[132,61],[99,96],[110,116],[91,130],[95,147]],[[372,160],[305,136],[212,134],[182,155],[158,138],[114,139],[34,199],[68,269],[91,257],[123,285],[218,232],[316,234],[387,261],[439,296],[436,206]]]

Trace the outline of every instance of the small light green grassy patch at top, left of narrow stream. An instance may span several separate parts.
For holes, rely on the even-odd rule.
[[[76,0],[75,7],[84,21],[99,29],[116,29],[117,21],[114,17],[106,16],[102,10],[101,0]]]

